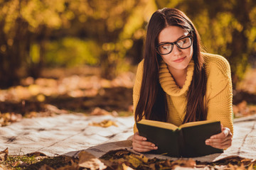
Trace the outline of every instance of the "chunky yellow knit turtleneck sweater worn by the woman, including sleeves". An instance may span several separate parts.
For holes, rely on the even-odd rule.
[[[230,128],[233,133],[233,109],[232,109],[232,82],[230,75],[230,65],[224,57],[220,55],[212,55],[202,53],[205,60],[206,69],[206,96],[204,101],[208,107],[207,120],[220,120],[224,127]],[[139,63],[137,76],[133,89],[134,112],[139,101],[139,94],[142,84],[144,60]],[[161,87],[166,92],[166,98],[169,108],[169,123],[181,125],[186,115],[186,96],[188,87],[193,77],[194,63],[193,60],[188,64],[188,72],[186,81],[182,89],[180,89],[174,78],[171,76],[165,62],[161,62],[159,68],[159,81]],[[137,132],[136,124],[134,124],[134,132]]]

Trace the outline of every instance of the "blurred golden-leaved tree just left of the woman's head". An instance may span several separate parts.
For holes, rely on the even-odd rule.
[[[146,13],[152,11],[152,3],[146,4],[148,2],[146,0],[91,0],[87,5],[90,6],[92,13],[83,14],[84,10],[75,11],[77,13],[75,16],[78,16],[80,21],[85,21],[81,25],[81,30],[87,33],[87,38],[95,40],[102,49],[99,59],[102,77],[114,78],[117,67],[122,64],[133,42],[144,38],[142,26],[145,23]]]

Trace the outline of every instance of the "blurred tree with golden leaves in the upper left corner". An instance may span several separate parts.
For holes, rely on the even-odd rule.
[[[38,77],[43,67],[45,43],[51,30],[63,26],[65,1],[10,0],[0,2],[0,86],[19,83],[26,76]],[[31,57],[38,52],[36,57]],[[30,75],[28,75],[30,73]]]

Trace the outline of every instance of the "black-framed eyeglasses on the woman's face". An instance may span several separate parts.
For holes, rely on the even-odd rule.
[[[174,49],[174,45],[180,49],[186,49],[192,45],[192,35],[176,40],[176,42],[165,42],[157,45],[156,50],[160,55],[168,55]]]

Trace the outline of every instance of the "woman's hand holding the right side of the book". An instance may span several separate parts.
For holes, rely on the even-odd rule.
[[[229,128],[223,128],[221,125],[221,130],[217,135],[213,135],[210,139],[206,140],[206,145],[210,145],[211,147],[215,147],[218,149],[227,149],[231,146],[232,143],[232,133]]]

